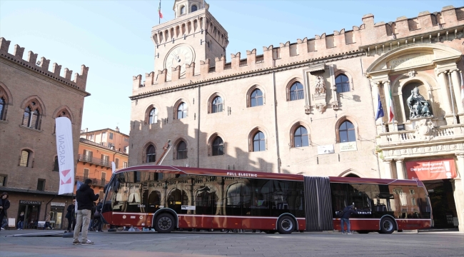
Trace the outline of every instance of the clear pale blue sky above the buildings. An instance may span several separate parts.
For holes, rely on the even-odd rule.
[[[162,0],[163,21],[173,19],[173,0]],[[334,30],[360,26],[364,14],[375,22],[415,17],[420,11],[463,6],[464,1],[207,1],[228,31],[231,53]],[[80,72],[89,66],[82,129],[121,128],[129,133],[132,76],[153,71],[151,26],[158,24],[158,1],[0,0],[0,36],[27,51]],[[51,66],[50,66],[51,67]],[[62,75],[62,74],[61,74]],[[73,74],[74,78],[74,74]],[[1,80],[1,74],[0,74]],[[14,85],[13,85],[14,86]]]

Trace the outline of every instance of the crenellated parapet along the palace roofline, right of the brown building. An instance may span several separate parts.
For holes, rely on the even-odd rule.
[[[342,58],[358,52],[367,56],[382,55],[408,44],[444,43],[463,40],[464,36],[464,6],[445,6],[440,12],[423,11],[417,17],[408,19],[401,16],[388,23],[374,23],[373,14],[366,14],[362,21],[363,24],[353,26],[351,30],[341,29],[333,31],[333,34],[324,33],[321,36],[316,35],[313,39],[305,37],[297,39],[295,43],[287,41],[278,47],[263,46],[263,54],[259,56],[256,55],[256,49],[253,49],[246,51],[246,59],[241,59],[240,52],[231,54],[230,62],[226,62],[225,56],[214,57],[211,60],[211,63],[214,61],[213,66],[210,66],[210,59],[200,60],[199,63],[196,61],[197,64],[186,66],[185,77],[176,77],[171,81],[166,81],[166,70],[158,71],[158,74],[150,73],[152,75],[146,76],[145,84],[139,75],[138,79],[133,81],[133,96],[298,63]],[[194,73],[195,69],[192,68],[195,65],[200,65],[197,73]]]

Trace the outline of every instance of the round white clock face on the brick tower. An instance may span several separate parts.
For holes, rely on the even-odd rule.
[[[179,78],[186,76],[186,64],[191,64],[195,61],[195,51],[191,46],[186,44],[181,44],[175,46],[169,53],[166,55],[164,60],[164,68],[168,70],[166,74],[166,79],[171,80],[171,68],[181,66],[181,74]]]

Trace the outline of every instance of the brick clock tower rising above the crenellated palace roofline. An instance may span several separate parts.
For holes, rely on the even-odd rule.
[[[227,31],[208,11],[203,0],[174,1],[174,19],[153,26],[151,39],[155,44],[155,71],[166,69],[166,81],[171,80],[172,69],[180,66],[179,78],[186,76],[186,65],[226,55]]]

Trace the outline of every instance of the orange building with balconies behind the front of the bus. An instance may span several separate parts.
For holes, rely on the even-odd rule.
[[[90,178],[91,188],[94,189],[94,193],[99,193],[100,200],[103,200],[104,186],[109,182],[113,172],[111,163],[114,162],[116,170],[128,166],[128,143],[129,136],[119,132],[118,128],[81,131],[76,181],[84,182]]]

